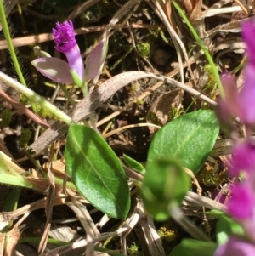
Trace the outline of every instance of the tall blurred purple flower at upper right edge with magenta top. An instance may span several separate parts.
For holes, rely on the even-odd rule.
[[[252,21],[242,24],[242,37],[247,44],[248,61],[244,70],[244,84],[238,91],[235,76],[225,74],[222,77],[225,98],[219,100],[218,116],[220,120],[229,120],[230,113],[240,117],[248,126],[255,125],[255,25]],[[252,35],[254,37],[252,37]]]

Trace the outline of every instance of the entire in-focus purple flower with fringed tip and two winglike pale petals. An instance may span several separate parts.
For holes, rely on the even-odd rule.
[[[86,73],[80,49],[77,45],[72,22],[57,22],[53,29],[55,48],[64,53],[68,63],[58,58],[38,58],[31,62],[43,76],[52,79],[54,82],[73,83],[71,71],[76,71],[82,82],[94,79],[101,71],[105,62],[107,52],[106,40],[101,40],[88,55]],[[79,84],[78,84],[79,85]]]

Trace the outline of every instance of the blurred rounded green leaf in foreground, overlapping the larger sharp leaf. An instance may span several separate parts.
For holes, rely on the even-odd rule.
[[[190,176],[174,159],[154,159],[150,162],[141,188],[144,208],[156,220],[169,218],[172,208],[184,200],[190,189]]]

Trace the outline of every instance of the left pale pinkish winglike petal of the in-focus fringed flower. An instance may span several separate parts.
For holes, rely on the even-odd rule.
[[[59,58],[39,58],[31,62],[44,77],[54,82],[73,83],[70,67]]]

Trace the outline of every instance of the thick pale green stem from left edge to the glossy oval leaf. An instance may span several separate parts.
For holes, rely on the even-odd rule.
[[[45,100],[40,95],[36,94],[30,88],[26,88],[20,82],[15,81],[12,77],[8,77],[2,71],[0,71],[0,81],[8,84],[10,87],[16,89],[21,94],[26,95],[26,97],[31,100],[31,102],[41,105],[42,108],[54,114],[54,116],[58,117],[61,121],[65,122],[68,125],[71,125],[74,122],[71,117],[67,116],[63,111],[60,111],[55,105]]]

